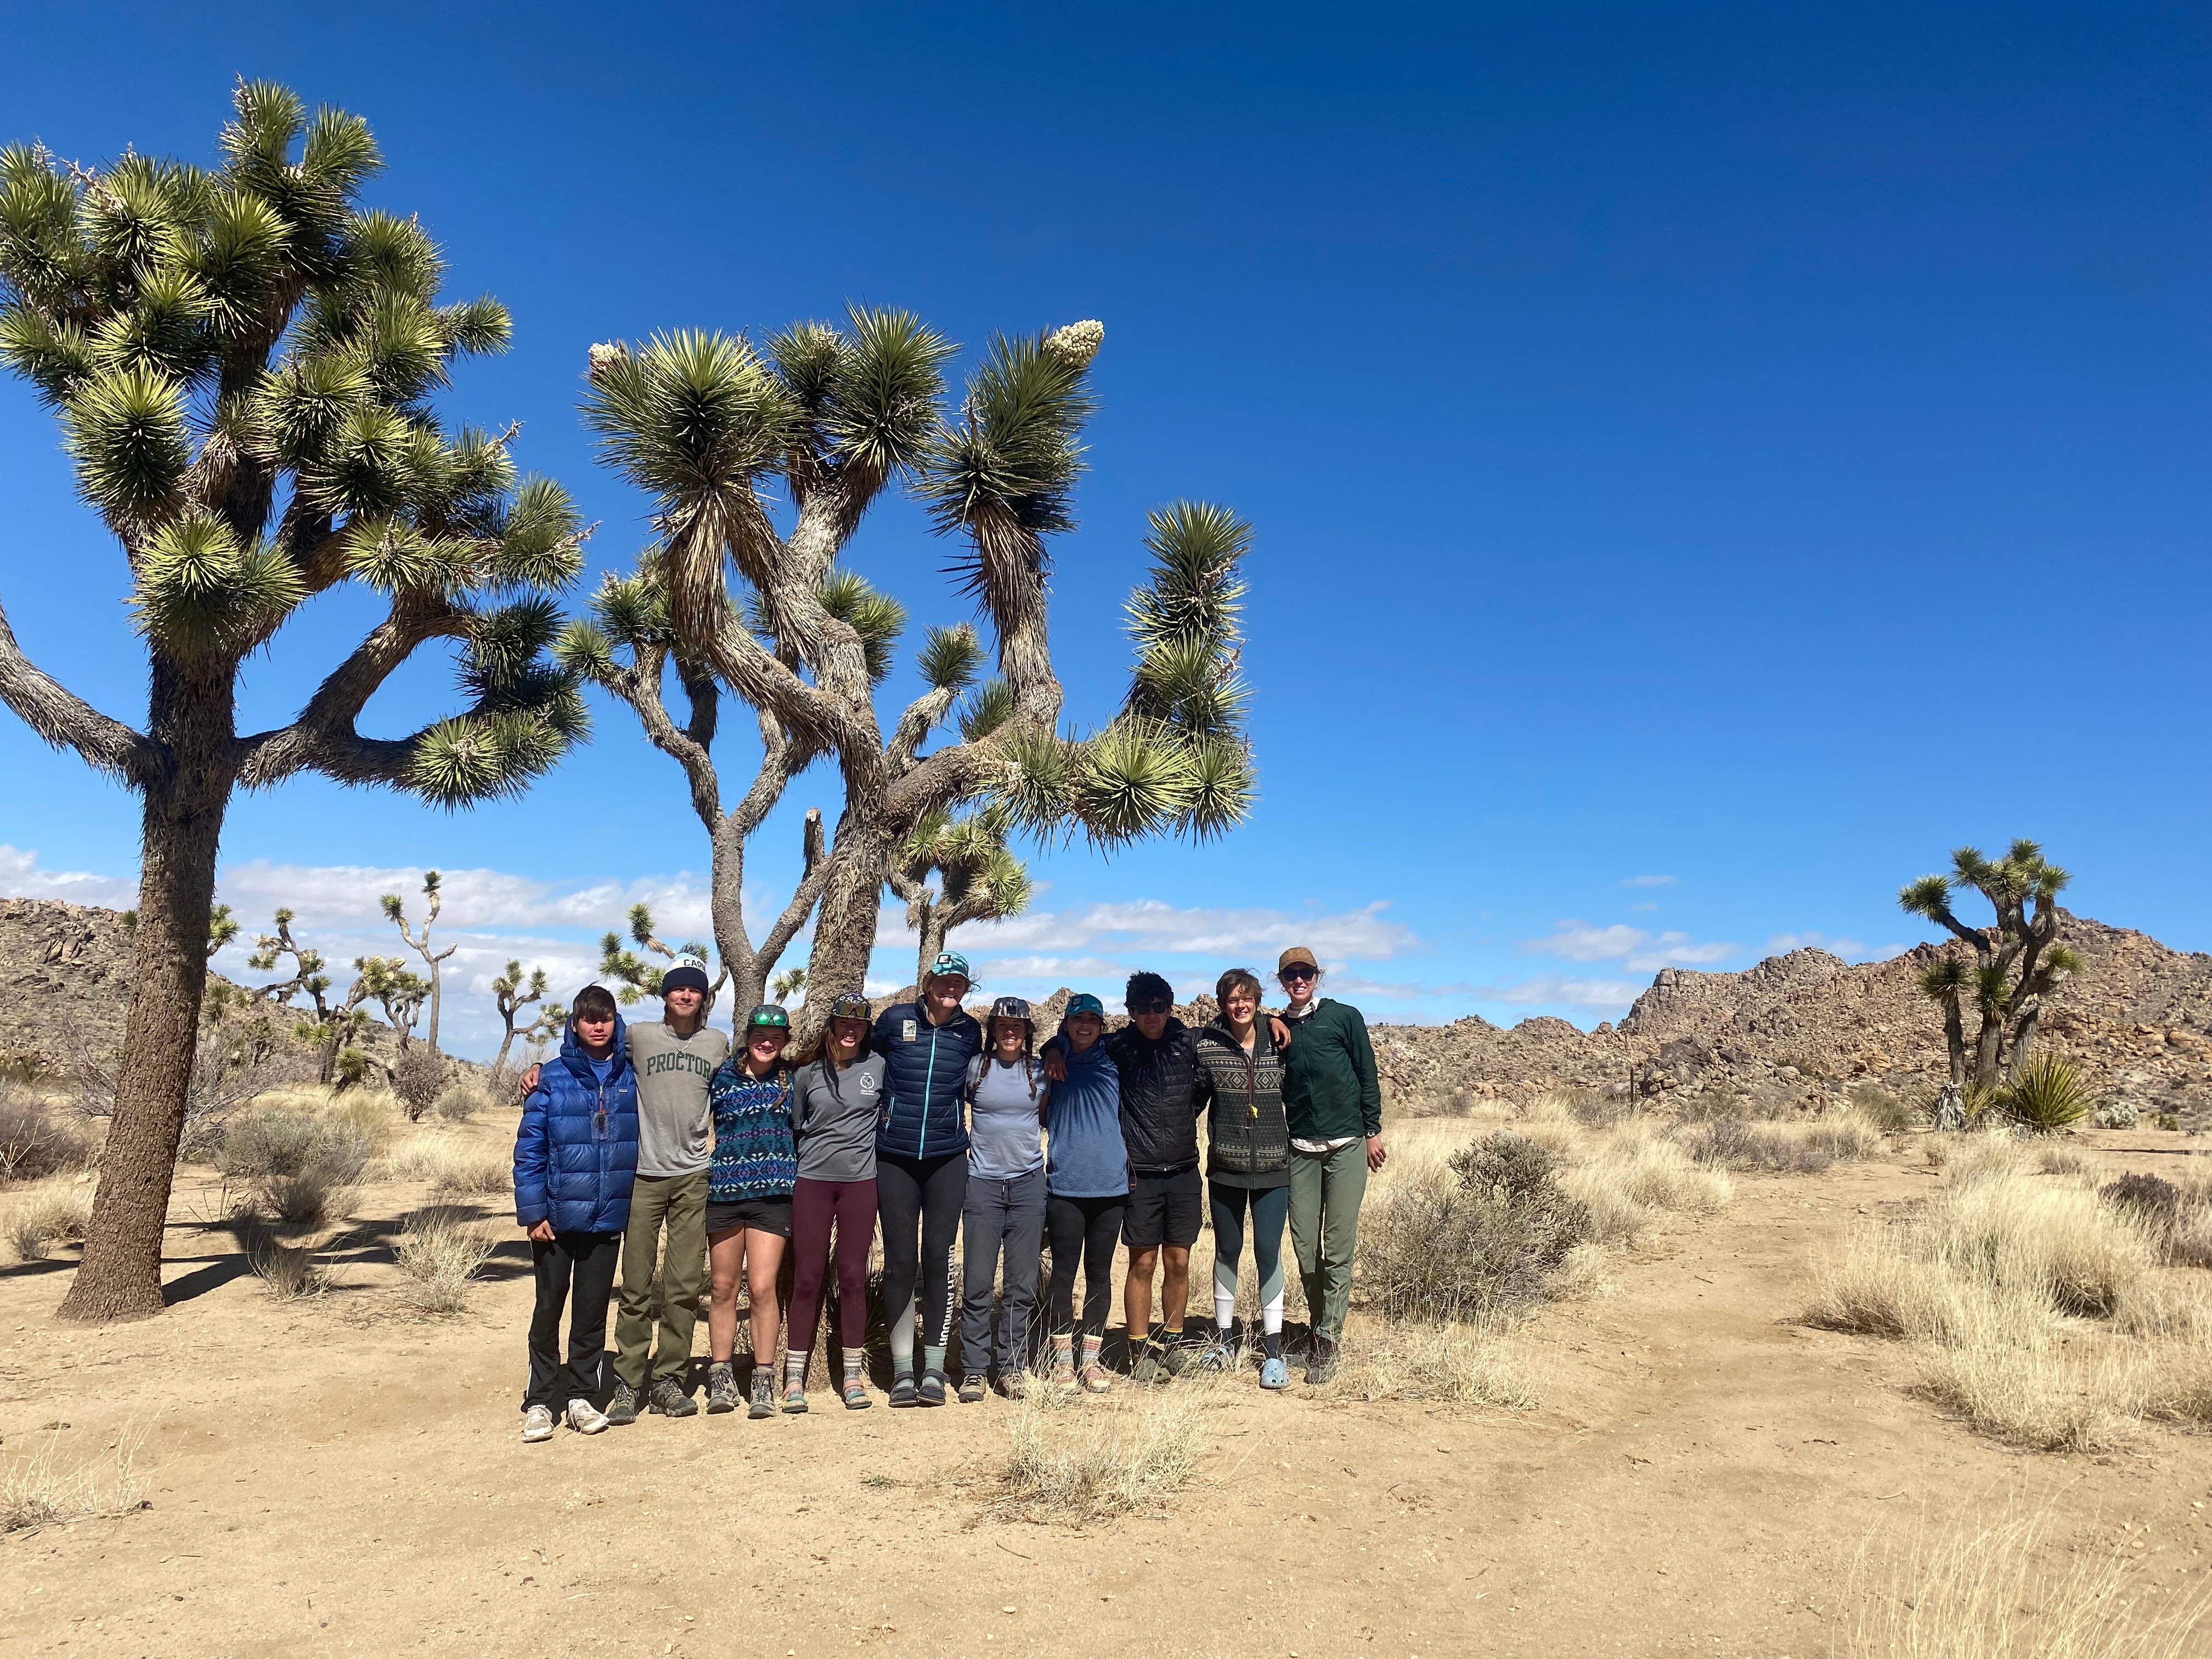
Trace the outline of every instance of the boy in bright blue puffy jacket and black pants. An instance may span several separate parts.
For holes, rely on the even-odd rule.
[[[529,1230],[538,1267],[531,1314],[531,1389],[522,1438],[551,1440],[566,1402],[568,1427],[599,1433],[593,1405],[606,1347],[606,1303],[615,1290],[622,1230],[637,1177],[637,1073],[624,1057],[622,1015],[602,984],[575,993],[560,1060],[522,1099],[515,1133],[515,1221]],[[571,1294],[568,1363],[560,1360],[560,1314]]]

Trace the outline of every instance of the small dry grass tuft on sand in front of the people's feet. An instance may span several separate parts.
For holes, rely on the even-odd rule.
[[[993,1511],[1068,1526],[1164,1511],[1199,1473],[1217,1387],[1186,1380],[1104,1400],[1031,1389],[1013,1407]]]

